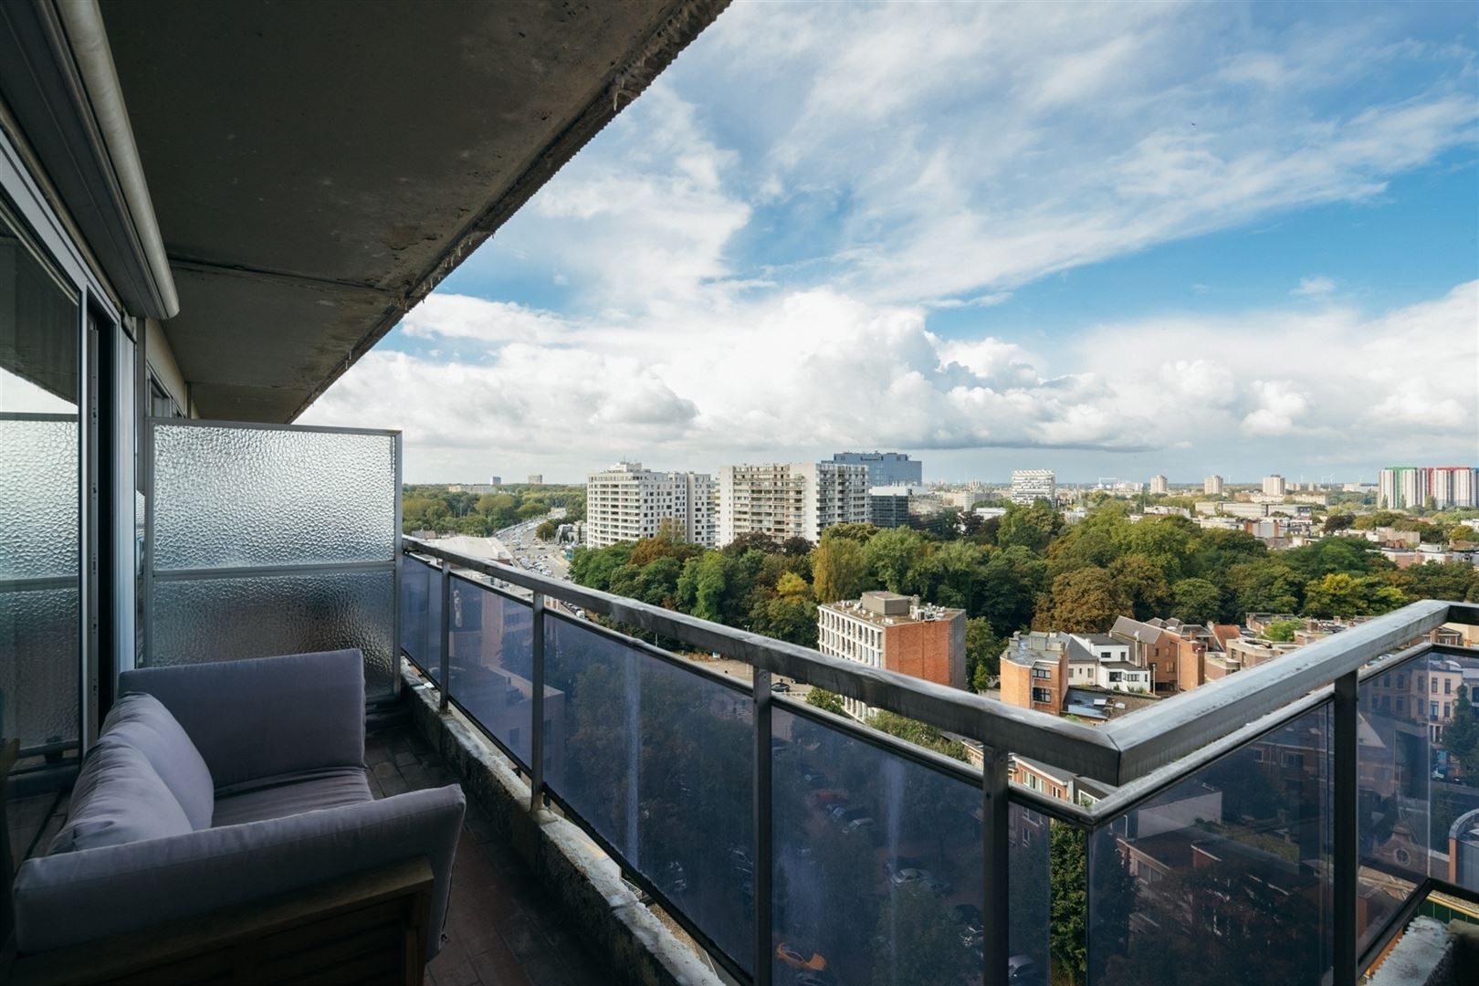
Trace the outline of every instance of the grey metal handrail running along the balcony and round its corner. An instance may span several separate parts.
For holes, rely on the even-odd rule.
[[[1415,602],[1299,647],[1269,664],[1171,696],[1134,715],[1092,727],[636,599],[535,575],[504,562],[472,557],[420,538],[404,537],[402,545],[407,553],[442,559],[546,597],[575,603],[618,622],[673,637],[774,674],[800,679],[828,692],[1111,785],[1143,778],[1207,744],[1236,733],[1445,622],[1479,622],[1479,606],[1473,603]]]

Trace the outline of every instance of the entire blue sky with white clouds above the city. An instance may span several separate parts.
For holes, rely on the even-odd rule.
[[[1472,3],[735,3],[303,415],[408,482],[1479,464]]]

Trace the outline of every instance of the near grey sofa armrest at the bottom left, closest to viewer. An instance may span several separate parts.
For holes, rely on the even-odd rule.
[[[15,878],[16,948],[41,952],[141,931],[420,856],[435,875],[430,958],[441,943],[464,807],[461,788],[450,785],[31,859]]]

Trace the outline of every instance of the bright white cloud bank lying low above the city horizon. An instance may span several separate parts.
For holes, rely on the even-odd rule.
[[[466,306],[444,310],[450,333],[475,331]],[[479,365],[374,352],[305,420],[405,429],[413,477],[500,472],[509,458],[578,476],[621,454],[714,469],[859,443],[1127,452],[1338,439],[1380,458],[1415,430],[1449,446],[1479,433],[1472,380],[1429,373],[1435,353],[1479,365],[1476,310],[1479,281],[1375,319],[1299,307],[1145,319],[1034,353],[941,339],[923,307],[812,290],[694,310],[683,331],[569,325]],[[419,331],[439,334],[429,321]]]

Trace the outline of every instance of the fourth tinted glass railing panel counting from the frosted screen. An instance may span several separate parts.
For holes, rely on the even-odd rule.
[[[979,982],[981,785],[782,708],[772,749],[774,982],[822,967],[840,983]]]

